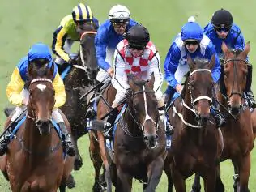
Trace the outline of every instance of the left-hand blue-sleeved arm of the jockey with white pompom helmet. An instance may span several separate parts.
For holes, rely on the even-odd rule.
[[[169,86],[173,87],[174,89],[177,87],[178,84],[174,74],[177,70],[180,59],[181,51],[177,47],[177,45],[173,43],[164,61],[164,76]]]

